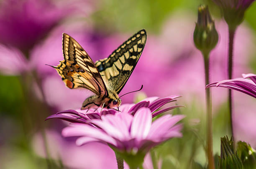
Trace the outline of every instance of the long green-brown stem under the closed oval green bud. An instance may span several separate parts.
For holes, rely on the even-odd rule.
[[[205,60],[205,86],[210,83],[210,74],[209,74],[209,53],[203,54]],[[208,168],[214,169],[214,159],[213,159],[213,150],[212,150],[212,100],[210,88],[205,89],[206,94],[206,116],[207,116],[207,159],[208,159]]]

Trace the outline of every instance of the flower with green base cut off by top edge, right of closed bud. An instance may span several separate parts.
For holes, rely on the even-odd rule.
[[[235,30],[243,21],[246,9],[254,0],[213,0],[222,10],[230,29]]]

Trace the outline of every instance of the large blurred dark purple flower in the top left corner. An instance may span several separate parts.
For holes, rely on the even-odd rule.
[[[0,43],[26,55],[68,14],[50,0],[8,0],[0,7]]]

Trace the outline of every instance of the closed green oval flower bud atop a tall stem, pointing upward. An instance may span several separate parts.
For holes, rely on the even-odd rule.
[[[218,32],[205,5],[198,7],[198,18],[194,31],[194,43],[203,55],[208,55],[218,43]]]

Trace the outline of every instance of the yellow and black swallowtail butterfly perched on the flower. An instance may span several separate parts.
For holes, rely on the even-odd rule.
[[[146,31],[140,30],[109,57],[94,63],[74,38],[63,33],[64,60],[51,67],[57,70],[68,88],[83,87],[94,93],[84,100],[82,110],[91,107],[119,107],[121,99],[118,94],[131,76],[145,44]]]

